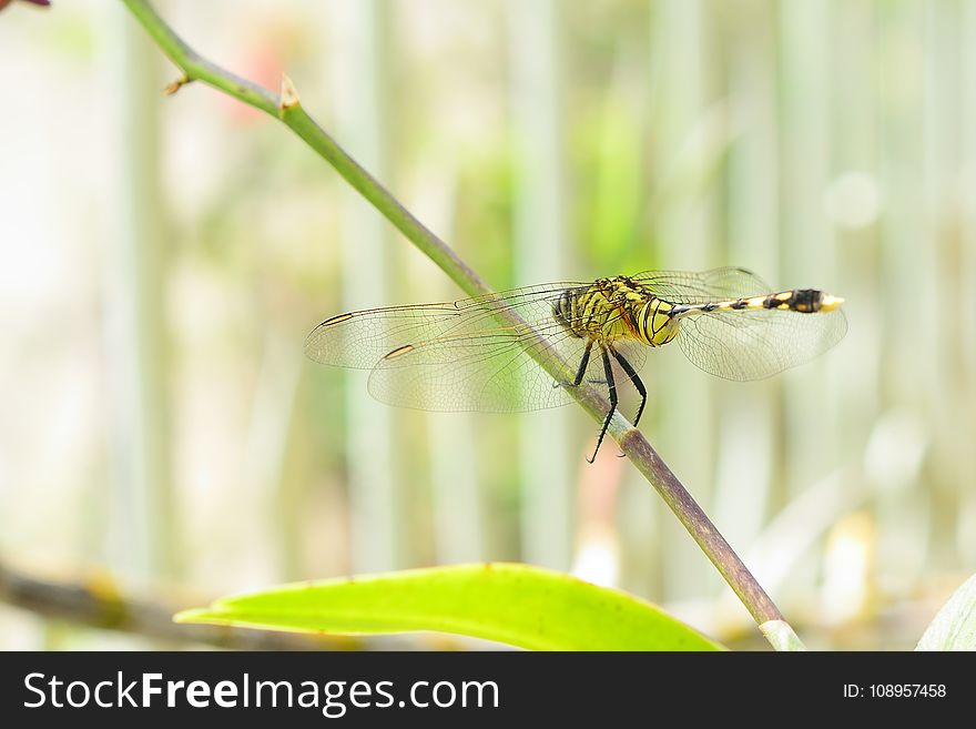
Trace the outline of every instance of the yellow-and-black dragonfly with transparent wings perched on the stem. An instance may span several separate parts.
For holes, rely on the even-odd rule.
[[[640,396],[640,422],[649,350],[677,342],[704,372],[761,379],[840,342],[843,301],[777,291],[739,267],[645,271],[338,314],[308,334],[305,353],[369,369],[376,399],[423,411],[536,411],[568,404],[583,384],[598,387],[609,409],[592,463],[618,409],[618,382]]]

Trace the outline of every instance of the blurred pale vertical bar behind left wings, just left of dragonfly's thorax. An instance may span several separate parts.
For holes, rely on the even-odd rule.
[[[572,250],[566,230],[562,159],[561,16],[557,0],[510,0],[510,83],[517,179],[515,270],[520,284],[565,277]],[[612,444],[608,444],[610,447]],[[582,459],[582,454],[578,454]],[[560,409],[519,418],[522,559],[568,569],[572,477]]]

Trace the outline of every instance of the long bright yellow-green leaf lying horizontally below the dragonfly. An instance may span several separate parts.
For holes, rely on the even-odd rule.
[[[620,590],[518,564],[283,585],[185,610],[179,622],[332,634],[439,630],[537,650],[721,650]]]

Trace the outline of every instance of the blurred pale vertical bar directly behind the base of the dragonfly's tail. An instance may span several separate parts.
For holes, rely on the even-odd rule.
[[[711,267],[715,236],[714,195],[702,184],[710,152],[721,146],[709,110],[709,10],[701,0],[663,0],[650,17],[652,93],[649,136],[657,169],[654,196],[664,200],[652,221],[659,241],[655,267]],[[690,182],[690,183],[689,183]],[[665,355],[665,353],[661,353]],[[672,353],[677,354],[677,353]],[[681,480],[695,484],[705,505],[712,483],[714,386],[703,373],[691,372],[675,356],[653,357],[649,378],[650,407],[658,426],[654,446]],[[654,383],[668,383],[667,387]],[[689,437],[693,433],[694,437]],[[680,525],[660,509],[662,549],[660,596],[680,600],[701,595],[711,576],[692,550],[684,549]],[[708,580],[708,581],[706,581]]]

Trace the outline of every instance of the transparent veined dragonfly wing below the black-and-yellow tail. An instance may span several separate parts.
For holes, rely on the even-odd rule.
[[[841,310],[711,312],[681,320],[678,344],[692,364],[725,379],[762,379],[834,346],[847,331]]]

